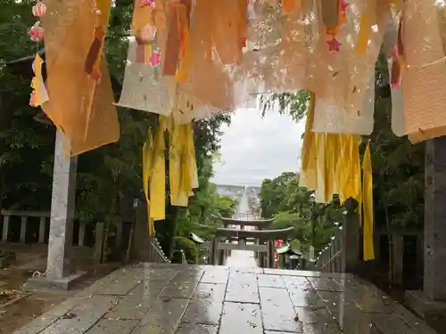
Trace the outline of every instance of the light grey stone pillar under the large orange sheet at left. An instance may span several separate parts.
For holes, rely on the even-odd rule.
[[[63,134],[57,130],[46,265],[46,277],[49,280],[60,280],[70,274],[69,252],[72,246],[77,167],[78,159],[67,156],[63,146]]]

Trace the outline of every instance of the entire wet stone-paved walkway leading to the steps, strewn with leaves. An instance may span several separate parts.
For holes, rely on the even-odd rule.
[[[340,273],[141,264],[117,270],[15,334],[436,334]]]

